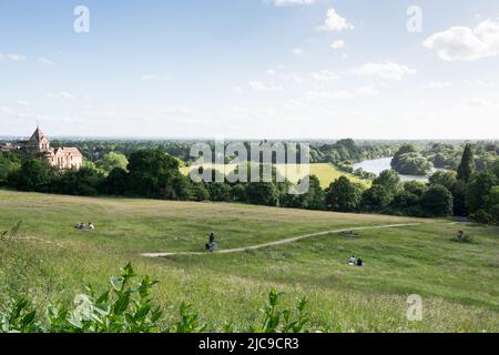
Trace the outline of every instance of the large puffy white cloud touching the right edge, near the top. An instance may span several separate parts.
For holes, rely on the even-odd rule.
[[[422,44],[446,61],[496,57],[499,54],[499,22],[487,20],[475,29],[452,27],[430,36]]]

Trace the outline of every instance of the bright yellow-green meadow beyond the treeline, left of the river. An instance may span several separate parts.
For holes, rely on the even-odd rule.
[[[233,172],[237,165],[236,164],[227,164],[227,165],[217,165],[217,164],[204,164],[205,169],[214,169],[220,172],[224,172],[225,174],[230,174]],[[286,176],[291,182],[297,183],[301,179],[303,179],[305,175],[316,175],[318,180],[320,181],[320,186],[323,189],[326,189],[329,186],[332,182],[334,182],[336,179],[340,176],[347,176],[352,182],[360,183],[364,186],[369,186],[370,182],[367,180],[361,180],[354,174],[349,174],[346,172],[343,172],[338,170],[333,164],[327,163],[315,163],[309,164],[309,171],[306,172],[305,169],[303,169],[301,165],[297,164],[274,164],[276,170],[279,172],[281,175]],[[192,169],[198,169],[198,165],[194,166],[182,166],[181,173],[184,175],[189,175],[189,172]]]

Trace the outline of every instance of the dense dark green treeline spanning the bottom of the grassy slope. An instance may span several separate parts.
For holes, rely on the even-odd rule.
[[[361,149],[347,141],[340,144],[348,145],[348,152],[363,154]],[[414,146],[401,145],[394,161],[404,162],[403,158],[414,154]],[[303,195],[289,194],[289,182],[230,183],[233,180],[222,178],[223,182],[194,183],[181,174],[180,160],[160,149],[138,150],[128,159],[123,154],[110,152],[100,160],[86,161],[78,171],[65,172],[52,169],[43,160],[22,160],[17,152],[10,152],[0,155],[0,185],[21,191],[73,195],[241,202],[413,216],[470,215],[479,222],[497,224],[499,163],[496,159],[488,169],[478,169],[476,151],[476,146],[467,144],[461,152],[457,172],[439,171],[430,176],[429,183],[403,183],[396,171],[388,170],[374,179],[369,189],[345,176],[334,181],[327,189],[322,189],[318,179],[309,176],[309,190]],[[261,173],[262,170],[263,166]],[[207,173],[213,178],[220,174],[216,171]],[[274,169],[273,175],[276,174]]]

